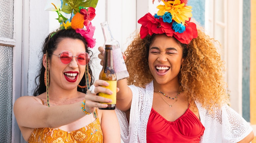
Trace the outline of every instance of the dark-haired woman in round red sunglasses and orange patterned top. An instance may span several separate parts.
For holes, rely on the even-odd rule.
[[[14,103],[21,133],[29,143],[118,143],[121,139],[115,111],[98,110],[107,104],[95,103],[111,102],[96,93],[113,93],[100,87],[108,86],[107,82],[94,81],[92,75],[93,53],[89,47],[95,46],[95,27],[91,22],[76,29],[67,24],[62,23],[44,41],[34,96],[20,97]]]

